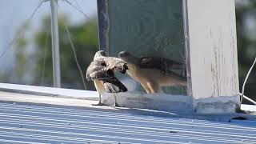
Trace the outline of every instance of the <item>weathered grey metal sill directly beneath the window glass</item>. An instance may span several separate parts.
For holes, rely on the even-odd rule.
[[[164,110],[178,114],[192,114],[192,98],[184,95],[145,94],[142,92],[126,92],[103,94],[102,102],[108,106],[114,104],[114,95],[119,106],[150,110]]]

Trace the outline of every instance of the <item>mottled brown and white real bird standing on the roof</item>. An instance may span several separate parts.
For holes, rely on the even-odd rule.
[[[94,60],[90,63],[86,70],[86,79],[94,81],[94,86],[98,91],[99,102],[94,106],[103,106],[102,94],[126,92],[127,88],[115,77],[114,72],[119,71],[126,73],[128,67],[126,62],[120,58],[106,57],[104,50],[99,50],[94,54]],[[114,94],[114,106],[118,106],[116,96]]]

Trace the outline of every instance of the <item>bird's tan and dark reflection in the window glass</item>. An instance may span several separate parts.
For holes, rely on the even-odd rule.
[[[182,63],[167,58],[137,58],[127,51],[121,51],[118,58],[127,63],[126,73],[141,83],[148,94],[161,92],[161,86],[187,86],[186,78],[169,71],[167,67],[182,70]]]

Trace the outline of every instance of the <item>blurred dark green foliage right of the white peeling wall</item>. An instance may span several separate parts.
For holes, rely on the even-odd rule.
[[[248,32],[248,21],[254,22],[254,34]],[[256,1],[236,0],[236,25],[238,39],[238,68],[239,83],[242,90],[242,83],[256,57]],[[256,68],[250,74],[246,84],[246,96],[256,100]]]

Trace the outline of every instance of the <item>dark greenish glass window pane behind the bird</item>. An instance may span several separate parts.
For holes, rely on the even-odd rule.
[[[155,73],[150,72],[149,67],[146,68],[147,74],[152,73],[153,79],[162,78],[162,82],[158,82],[162,85],[158,92],[186,95],[186,86],[170,86],[171,82],[169,82],[170,76],[173,75],[186,82],[182,1],[108,0],[106,2],[105,8],[101,7],[105,12],[99,10],[101,11],[99,14],[100,38],[105,38],[105,41],[101,41],[101,48],[115,57],[125,50],[139,60],[136,64],[141,64],[140,62],[143,61],[151,62],[150,57],[156,58],[154,70],[151,70]],[[104,5],[104,3],[100,4]],[[105,22],[105,25],[102,24],[101,27],[102,22]],[[161,62],[156,62],[159,60]],[[170,65],[171,60],[178,62],[179,66]],[[146,66],[145,63],[142,65]],[[151,64],[149,65],[152,67]],[[159,69],[161,73],[155,71]],[[143,88],[139,83],[141,81],[138,78],[130,78],[123,74],[118,76],[128,90],[146,90],[145,86]],[[168,86],[164,85],[166,79],[169,82]],[[172,82],[175,83],[174,80]]]

